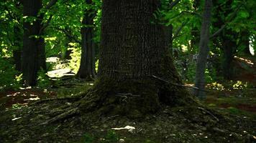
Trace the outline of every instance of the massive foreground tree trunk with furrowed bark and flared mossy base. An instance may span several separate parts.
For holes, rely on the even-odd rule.
[[[161,104],[192,102],[173,66],[164,26],[153,14],[160,0],[104,0],[99,81],[83,110],[141,117]],[[175,83],[175,84],[173,84]],[[90,100],[96,104],[88,104]]]

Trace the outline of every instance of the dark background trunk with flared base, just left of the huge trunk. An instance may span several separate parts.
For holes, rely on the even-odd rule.
[[[92,4],[91,0],[86,0],[86,4]],[[95,44],[93,42],[93,10],[85,11],[82,21],[82,53],[81,64],[76,75],[78,78],[91,80],[96,77],[95,74]]]

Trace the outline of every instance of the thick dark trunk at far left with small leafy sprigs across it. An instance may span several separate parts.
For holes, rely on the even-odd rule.
[[[40,37],[42,17],[38,16],[41,8],[41,0],[23,1],[23,16],[35,18],[35,21],[24,21],[23,24],[22,73],[25,83],[30,86],[37,83],[37,71],[45,69],[45,45]]]

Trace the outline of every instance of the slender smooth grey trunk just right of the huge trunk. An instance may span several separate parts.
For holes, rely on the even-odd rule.
[[[195,86],[204,90],[205,77],[204,72],[206,69],[207,56],[209,54],[209,28],[211,26],[211,7],[212,1],[206,0],[204,4],[204,16],[201,25],[201,36],[199,43],[199,54],[196,61],[196,82]],[[204,99],[205,92],[195,89],[195,95],[200,99]]]

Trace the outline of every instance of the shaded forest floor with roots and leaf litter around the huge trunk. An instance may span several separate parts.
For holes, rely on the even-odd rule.
[[[204,107],[163,106],[143,119],[89,112],[44,124],[79,99],[66,97],[93,85],[73,78],[58,88],[0,92],[0,142],[256,142],[256,62],[236,62],[241,82],[209,84]],[[39,99],[49,100],[35,102]]]

